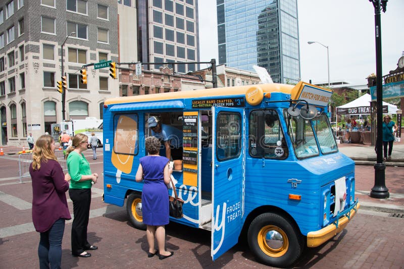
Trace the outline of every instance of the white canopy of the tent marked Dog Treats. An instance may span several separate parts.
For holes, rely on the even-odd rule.
[[[352,102],[337,107],[337,114],[370,114],[370,94],[364,94]],[[387,106],[388,114],[395,114],[397,106],[383,101],[383,106]],[[369,108],[368,108],[369,107]],[[355,109],[357,108],[357,109]],[[368,108],[368,109],[367,109]],[[338,111],[339,110],[339,111]]]

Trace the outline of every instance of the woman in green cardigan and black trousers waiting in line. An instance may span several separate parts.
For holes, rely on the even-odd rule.
[[[70,180],[69,196],[73,201],[72,224],[72,255],[90,257],[86,250],[98,249],[87,241],[87,226],[90,217],[91,186],[97,182],[98,175],[91,173],[90,164],[84,157],[87,150],[88,137],[77,133],[72,140],[72,146],[67,148],[66,162]]]

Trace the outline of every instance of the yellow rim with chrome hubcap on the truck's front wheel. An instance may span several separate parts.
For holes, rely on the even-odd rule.
[[[289,240],[286,233],[275,225],[267,225],[258,232],[258,245],[268,256],[281,257],[289,248]]]

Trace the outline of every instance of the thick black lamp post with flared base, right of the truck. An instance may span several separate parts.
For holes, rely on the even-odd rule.
[[[376,123],[377,137],[376,149],[377,158],[375,169],[375,185],[370,191],[372,198],[388,198],[390,196],[385,184],[386,165],[382,158],[382,140],[383,140],[383,86],[382,86],[382,36],[380,23],[380,8],[386,12],[388,0],[369,0],[375,8],[375,40],[376,40]]]

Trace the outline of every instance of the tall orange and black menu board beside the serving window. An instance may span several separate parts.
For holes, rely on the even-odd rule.
[[[184,112],[183,116],[183,183],[188,186],[196,186],[198,182],[198,111]]]

